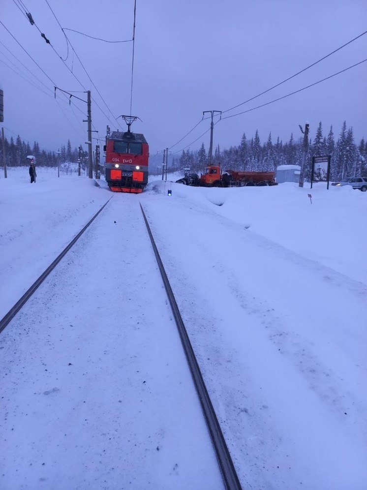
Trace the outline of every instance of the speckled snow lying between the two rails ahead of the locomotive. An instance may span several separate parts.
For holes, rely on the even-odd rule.
[[[223,488],[131,196],[114,196],[0,349],[1,489]]]

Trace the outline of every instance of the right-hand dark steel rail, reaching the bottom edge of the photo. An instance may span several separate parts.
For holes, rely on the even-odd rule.
[[[175,296],[173,294],[171,285],[169,283],[168,277],[163,267],[163,263],[159,256],[158,249],[155,245],[153,234],[151,228],[149,226],[147,217],[144,213],[144,209],[140,204],[140,208],[143,213],[144,221],[147,226],[148,234],[152,242],[154,255],[159,267],[160,274],[163,279],[164,287],[167,292],[167,296],[172,308],[172,312],[176,321],[176,325],[181,337],[181,342],[183,344],[183,350],[186,355],[186,359],[188,362],[188,366],[191,371],[192,379],[194,381],[194,385],[196,388],[196,392],[198,394],[200,404],[203,410],[204,418],[207,423],[209,433],[212,439],[212,443],[214,446],[214,452],[216,459],[218,461],[219,469],[222,475],[224,486],[227,490],[242,490],[240,480],[237,476],[236,469],[234,467],[231,455],[229,453],[227,444],[225,442],[223,433],[220,429],[220,425],[218,419],[215,415],[214,408],[209,397],[208,390],[205,386],[203,376],[201,374],[199,365],[197,363],[190,339],[187,335],[186,328],[183,323],[183,319],[180,314],[179,307],[177,306]]]

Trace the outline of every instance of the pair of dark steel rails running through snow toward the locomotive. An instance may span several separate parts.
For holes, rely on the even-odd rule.
[[[111,198],[110,198],[111,199]],[[8,311],[8,313],[0,320],[0,332],[4,330],[4,328],[9,324],[9,322],[15,317],[15,315],[21,310],[21,308],[25,305],[25,303],[31,298],[37,288],[42,284],[42,282],[46,279],[47,276],[56,268],[61,259],[67,254],[70,248],[76,244],[76,242],[81,238],[84,232],[89,228],[94,219],[102,212],[102,210],[107,206],[110,199],[99,209],[99,211],[94,214],[92,219],[85,225],[85,227],[76,235],[76,237],[67,245],[64,250],[60,253],[60,255],[50,264],[50,266],[44,271],[44,273],[39,276],[39,278],[31,285],[28,291],[20,298],[19,301]],[[193,348],[191,346],[189,337],[187,335],[186,328],[183,324],[183,320],[177,306],[172,288],[170,286],[168,277],[165,273],[163,263],[160,259],[158,249],[155,245],[154,238],[152,235],[152,231],[150,229],[146,214],[144,212],[143,207],[140,205],[141,212],[143,215],[143,219],[151,240],[151,244],[153,247],[153,252],[158,264],[159,272],[162,277],[162,281],[164,284],[164,288],[167,294],[168,301],[170,303],[172,313],[175,319],[175,323],[177,325],[177,329],[181,338],[181,342],[183,345],[183,350],[187,359],[188,367],[191,372],[191,376],[194,382],[194,386],[200,401],[200,405],[202,408],[202,412],[204,414],[204,418],[207,424],[207,428],[211,437],[211,441],[213,444],[215,456],[217,459],[218,467],[222,476],[224,487],[227,490],[240,490],[241,484],[239,478],[236,473],[236,469],[234,467],[233,461],[231,459],[231,455],[229,453],[226,441],[224,439],[223,433],[221,431],[218,419],[216,417],[213,404],[211,402],[209,393],[205,386],[199,365],[197,363]]]

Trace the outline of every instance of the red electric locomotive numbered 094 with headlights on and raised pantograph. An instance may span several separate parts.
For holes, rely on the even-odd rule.
[[[105,179],[115,192],[143,192],[148,184],[149,145],[144,135],[132,133],[134,116],[122,116],[127,131],[110,131],[107,126]]]

